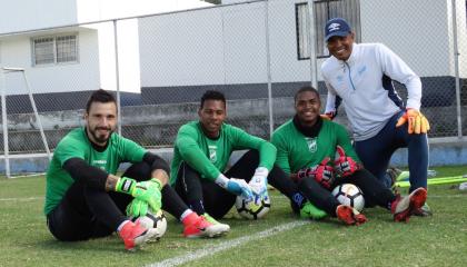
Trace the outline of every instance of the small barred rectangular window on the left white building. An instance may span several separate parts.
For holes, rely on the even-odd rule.
[[[78,36],[32,39],[32,66],[78,62]]]

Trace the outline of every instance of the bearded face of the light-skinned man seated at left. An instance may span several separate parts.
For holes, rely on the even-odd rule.
[[[115,102],[92,102],[85,120],[89,139],[103,147],[116,130],[117,106]]]

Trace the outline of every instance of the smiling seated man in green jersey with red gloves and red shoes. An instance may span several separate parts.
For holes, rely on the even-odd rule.
[[[297,182],[316,207],[338,217],[347,225],[364,224],[362,214],[340,205],[330,190],[340,184],[358,186],[369,206],[381,206],[394,220],[407,221],[425,204],[427,191],[420,187],[406,197],[396,196],[362,168],[346,129],[319,116],[321,102],[315,88],[304,87],[295,95],[294,119],[272,135],[277,148],[276,164]],[[335,158],[336,151],[338,158]],[[336,175],[336,176],[335,176]]]

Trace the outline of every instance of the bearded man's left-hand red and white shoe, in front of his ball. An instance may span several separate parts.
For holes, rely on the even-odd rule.
[[[123,225],[119,235],[121,239],[123,239],[125,249],[133,251],[136,247],[145,244],[156,235],[156,233],[142,227],[139,221],[128,221]]]

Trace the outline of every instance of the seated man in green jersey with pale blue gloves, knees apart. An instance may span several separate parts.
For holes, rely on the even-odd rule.
[[[276,148],[268,141],[225,123],[226,98],[215,90],[201,97],[199,120],[183,125],[177,135],[170,185],[198,215],[222,218],[236,197],[267,197],[267,184],[285,194],[302,217],[326,216],[299,192],[280,168],[275,167]],[[235,150],[249,149],[229,170]],[[247,184],[249,182],[249,184]]]

